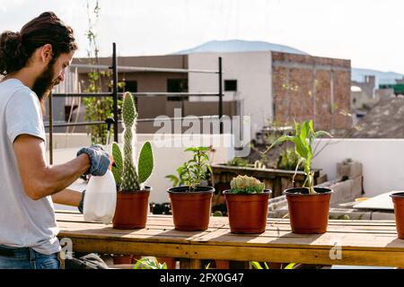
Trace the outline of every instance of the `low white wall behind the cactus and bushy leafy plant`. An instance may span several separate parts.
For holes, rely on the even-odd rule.
[[[230,135],[193,135],[193,138],[190,138],[189,135],[164,135],[162,142],[154,135],[137,135],[137,152],[140,151],[146,140],[151,141],[154,151],[154,172],[146,183],[153,187],[149,202],[163,203],[169,201],[166,190],[171,187],[171,182],[165,176],[176,174],[177,167],[189,160],[192,153],[183,151],[192,146],[192,139],[195,140],[194,146],[212,144],[215,147],[215,153],[210,155],[212,163],[233,159],[233,146],[228,144]],[[191,144],[189,145],[189,143]],[[55,150],[54,164],[75,159],[77,151],[76,147]]]

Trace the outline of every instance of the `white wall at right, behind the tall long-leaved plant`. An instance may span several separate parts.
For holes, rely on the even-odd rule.
[[[319,140],[313,168],[323,169],[336,178],[338,161],[360,161],[364,170],[365,196],[391,190],[404,190],[404,139],[327,139]]]

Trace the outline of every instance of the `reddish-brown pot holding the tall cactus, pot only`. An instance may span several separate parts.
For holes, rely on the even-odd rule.
[[[112,224],[118,230],[134,230],[145,228],[149,208],[148,198],[151,187],[133,192],[120,191],[117,195]]]

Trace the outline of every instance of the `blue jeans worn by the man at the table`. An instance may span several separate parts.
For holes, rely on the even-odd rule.
[[[57,253],[40,254],[32,248],[0,245],[0,269],[61,269]]]

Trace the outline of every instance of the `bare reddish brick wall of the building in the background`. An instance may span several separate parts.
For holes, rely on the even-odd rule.
[[[349,60],[272,52],[275,120],[312,119],[317,129],[352,126]]]

